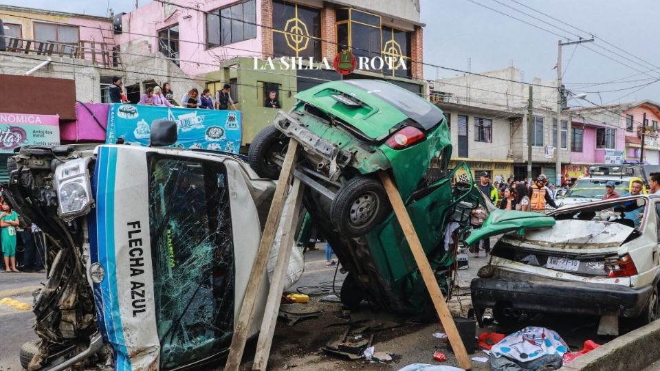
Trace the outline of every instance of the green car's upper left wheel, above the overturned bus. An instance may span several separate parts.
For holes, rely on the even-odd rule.
[[[276,155],[284,156],[288,145],[289,137],[278,131],[275,126],[267,126],[254,137],[250,144],[248,150],[250,168],[259,177],[278,179],[281,169],[273,160]]]

